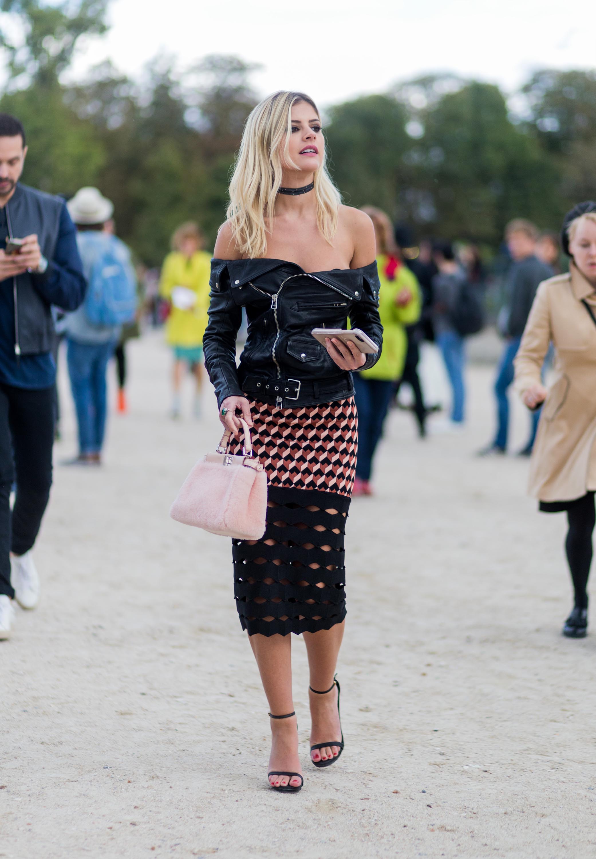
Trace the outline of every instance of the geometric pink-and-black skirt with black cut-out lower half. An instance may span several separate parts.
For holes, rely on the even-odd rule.
[[[267,527],[232,540],[234,598],[248,635],[329,630],[345,618],[345,523],[356,470],[354,398],[283,409],[251,401]],[[231,454],[241,453],[233,439]]]

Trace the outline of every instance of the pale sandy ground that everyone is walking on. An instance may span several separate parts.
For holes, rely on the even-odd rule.
[[[167,516],[218,441],[214,402],[172,423],[161,338],[130,362],[101,471],[59,466],[75,450],[62,380],[42,601],[0,647],[0,856],[596,856],[596,635],[560,635],[564,517],[525,497],[526,461],[472,456],[490,367],[470,370],[462,436],[420,442],[392,414],[376,497],[350,513],[344,756],[309,765],[295,637],[306,780],[277,795],[228,540]]]

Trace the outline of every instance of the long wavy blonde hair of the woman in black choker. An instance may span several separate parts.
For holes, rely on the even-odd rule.
[[[229,184],[226,218],[236,247],[250,258],[266,253],[267,233],[272,231],[277,191],[282,185],[283,163],[298,169],[289,157],[289,137],[292,107],[301,101],[313,107],[319,116],[319,109],[308,95],[280,91],[267,96],[246,119]],[[325,159],[314,171],[314,195],[317,226],[331,245],[338,228],[341,197],[327,172]]]

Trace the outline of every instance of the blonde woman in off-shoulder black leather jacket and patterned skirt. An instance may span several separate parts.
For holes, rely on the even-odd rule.
[[[289,633],[307,646],[312,762],[329,766],[344,749],[334,675],[356,466],[351,371],[378,356],[334,338],[322,346],[311,332],[345,328],[350,318],[380,349],[374,228],[341,205],[325,169],[319,111],[302,93],[276,93],[254,108],[229,194],[205,362],[222,423],[237,434],[238,416],[246,419],[269,478],[265,536],[233,541],[234,596],[271,711],[269,782],[295,792],[302,775]],[[248,336],[237,368],[242,308]]]

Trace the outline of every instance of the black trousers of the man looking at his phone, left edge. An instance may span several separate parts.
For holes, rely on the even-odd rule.
[[[9,597],[9,552],[32,548],[50,497],[54,411],[53,386],[29,391],[0,382],[0,594]]]

